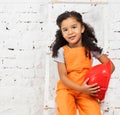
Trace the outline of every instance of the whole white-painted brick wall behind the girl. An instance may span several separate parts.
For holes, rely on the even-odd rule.
[[[84,20],[94,26],[99,44],[113,60],[116,71],[102,109],[104,115],[120,114],[119,0],[105,0],[105,4],[89,0],[60,2],[0,0],[0,115],[55,115],[54,109],[43,109],[54,100],[58,79],[48,45],[54,40],[56,17],[65,10],[84,13]],[[50,81],[48,96],[44,95],[46,76]]]

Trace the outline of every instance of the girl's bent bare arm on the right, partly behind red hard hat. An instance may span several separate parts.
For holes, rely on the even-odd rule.
[[[99,58],[98,58],[98,60],[101,62],[101,63],[106,63],[108,60],[110,60],[108,57],[107,57],[107,55],[105,55],[105,54],[102,54]],[[113,64],[113,62],[110,60],[110,62],[111,62],[111,73],[113,73],[114,72],[114,70],[115,70],[115,66],[114,66],[114,64]]]

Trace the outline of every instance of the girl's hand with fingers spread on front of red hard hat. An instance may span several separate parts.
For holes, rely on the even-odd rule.
[[[84,81],[84,83],[81,85],[81,92],[87,93],[92,96],[97,96],[97,93],[100,91],[100,87],[97,85],[97,83],[88,85],[89,78]]]

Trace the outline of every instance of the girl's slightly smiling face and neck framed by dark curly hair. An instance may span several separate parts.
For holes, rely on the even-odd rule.
[[[81,25],[74,17],[69,17],[62,21],[61,31],[64,39],[70,47],[81,46],[82,33],[84,26]]]

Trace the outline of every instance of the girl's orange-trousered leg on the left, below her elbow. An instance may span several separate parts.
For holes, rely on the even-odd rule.
[[[76,115],[76,104],[72,92],[61,89],[56,92],[57,115]]]

